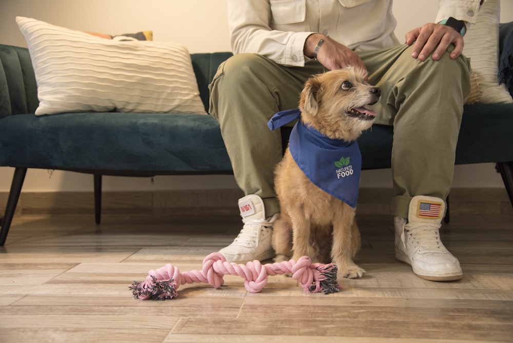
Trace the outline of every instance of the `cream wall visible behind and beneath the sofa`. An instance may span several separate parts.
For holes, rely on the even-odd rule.
[[[395,0],[396,34],[435,20],[438,2]],[[415,15],[412,15],[415,13]],[[0,43],[26,46],[15,16],[33,17],[75,30],[122,34],[153,31],[153,40],[181,42],[190,52],[229,51],[226,0],[0,0]],[[513,21],[513,1],[501,0],[501,21]],[[13,168],[0,167],[0,192],[7,192]],[[29,169],[24,191],[91,191],[92,177]],[[389,187],[390,170],[365,170],[362,187]],[[236,188],[232,176],[105,177],[105,190]],[[456,166],[453,187],[503,187],[493,164]]]

